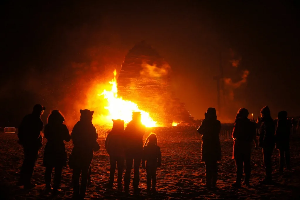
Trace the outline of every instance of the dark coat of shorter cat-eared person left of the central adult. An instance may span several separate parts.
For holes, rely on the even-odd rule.
[[[124,129],[112,129],[106,137],[105,149],[112,157],[125,158]]]

